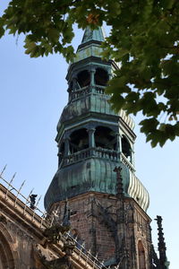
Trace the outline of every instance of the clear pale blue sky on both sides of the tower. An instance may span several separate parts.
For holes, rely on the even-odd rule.
[[[9,1],[4,0],[0,14]],[[82,32],[76,30],[75,48]],[[56,124],[67,102],[65,75],[68,65],[62,56],[31,59],[24,54],[23,37],[5,35],[0,39],[0,169],[7,164],[4,178],[14,172],[14,187],[26,180],[22,193],[43,195],[57,169]],[[179,177],[178,142],[168,142],[161,149],[151,149],[140,134],[136,117],[136,174],[150,195],[149,216],[164,218],[167,256],[170,269],[178,268]],[[153,239],[157,246],[157,227],[152,221]]]

